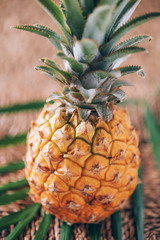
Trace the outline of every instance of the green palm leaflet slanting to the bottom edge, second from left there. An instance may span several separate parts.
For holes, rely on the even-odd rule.
[[[39,228],[35,234],[34,240],[44,240],[46,238],[49,226],[51,224],[52,215],[44,213],[44,216],[39,224]]]

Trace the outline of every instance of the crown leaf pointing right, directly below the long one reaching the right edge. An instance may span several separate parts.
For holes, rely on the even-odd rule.
[[[132,47],[132,46],[136,46],[146,40],[152,40],[152,37],[150,36],[137,36],[137,37],[133,37],[133,38],[130,38],[124,42],[121,42],[120,44],[118,44],[116,47],[113,48],[113,51],[117,51],[119,49],[123,49],[123,48],[126,48],[126,47]]]

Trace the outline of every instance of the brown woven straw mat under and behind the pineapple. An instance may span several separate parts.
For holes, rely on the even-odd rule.
[[[142,0],[142,4],[138,9],[139,12],[137,15],[145,10],[148,11],[148,9],[149,11],[158,11],[160,10],[160,2],[158,0]],[[37,7],[33,0],[12,0],[8,3],[5,0],[1,0],[0,22],[0,27],[2,27],[3,33],[0,36],[2,54],[0,59],[1,105],[26,102],[35,99],[45,99],[53,90],[56,90],[56,87],[52,80],[49,80],[48,78],[46,79],[43,75],[36,73],[33,70],[33,66],[38,64],[37,59],[40,57],[53,57],[53,48],[51,48],[49,43],[46,43],[45,39],[33,36],[32,34],[30,35],[29,33],[12,32],[9,30],[9,26],[20,23],[41,23],[50,27],[56,27],[50,23],[50,19],[39,7]],[[151,44],[152,46],[148,43],[146,43],[145,46],[149,48],[149,50],[152,49],[150,56],[144,58],[144,55],[139,55],[140,57],[138,59],[133,59],[134,61],[132,64],[139,62],[140,65],[142,64],[144,66],[145,71],[147,72],[147,78],[141,82],[139,79],[134,79],[134,83],[137,84],[137,86],[141,84],[143,87],[139,85],[139,87],[136,88],[136,91],[133,91],[133,89],[130,92],[128,91],[129,95],[132,97],[133,93],[135,97],[136,92],[136,96],[139,98],[144,96],[152,98],[153,91],[157,89],[160,75],[159,63],[157,63],[158,61],[156,62],[156,59],[159,59],[159,23],[160,20],[156,20],[154,25],[151,23],[146,25],[146,27],[152,31],[150,33],[150,31],[147,30],[147,32],[155,38],[154,44]],[[145,28],[143,27],[136,30],[137,32],[135,33],[138,34],[139,32],[142,32],[141,30],[146,33]],[[131,62],[129,62],[129,64],[131,64]],[[154,79],[154,86],[150,79]],[[148,89],[150,90],[149,93]],[[142,109],[139,107],[134,107],[133,109],[132,107],[131,110],[132,121],[140,133],[140,148],[143,154],[142,167],[145,205],[145,239],[157,240],[160,239],[160,179],[155,167],[150,144],[148,143],[148,137],[144,129]],[[1,115],[0,138],[5,135],[15,135],[17,133],[26,132],[29,129],[31,119],[35,119],[37,114],[38,112],[34,111]],[[0,165],[21,159],[24,154],[24,145],[2,148],[0,149]],[[23,170],[16,173],[9,173],[0,178],[0,185],[23,177]],[[16,211],[30,203],[31,200],[26,199],[7,206],[2,206],[0,207],[0,216],[7,215],[12,212],[13,209]],[[41,214],[43,214],[43,209],[41,210]],[[41,221],[41,214],[37,215],[27,226],[26,230],[21,234],[20,239],[30,240],[34,238],[35,231],[38,229],[39,222]],[[136,239],[133,208],[130,202],[122,211],[122,217],[123,239]],[[59,239],[60,224],[61,222],[57,218],[53,219],[46,239]],[[5,239],[13,227],[14,226],[11,226],[8,230],[3,230],[2,233],[0,233],[0,239]],[[74,239],[89,239],[88,226],[84,224],[75,225]],[[110,218],[102,222],[101,239],[113,239]]]

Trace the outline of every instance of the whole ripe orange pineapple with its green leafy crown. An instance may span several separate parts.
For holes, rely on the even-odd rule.
[[[149,13],[130,21],[139,0],[51,0],[38,3],[62,34],[42,25],[17,29],[49,39],[65,70],[43,58],[36,67],[61,90],[48,99],[27,139],[25,172],[30,196],[67,223],[95,223],[123,208],[138,183],[138,135],[126,110],[121,77],[144,76],[139,66],[119,67],[132,53],[145,51],[137,36],[119,43],[127,32],[158,17]]]

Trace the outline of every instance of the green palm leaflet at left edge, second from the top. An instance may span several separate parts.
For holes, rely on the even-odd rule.
[[[17,145],[20,143],[25,143],[26,142],[26,133],[18,134],[15,136],[6,136],[4,138],[0,139],[0,148],[2,147],[8,147],[10,145]]]

